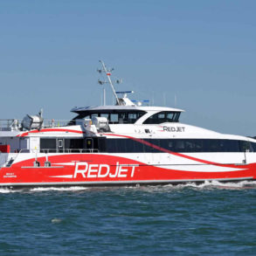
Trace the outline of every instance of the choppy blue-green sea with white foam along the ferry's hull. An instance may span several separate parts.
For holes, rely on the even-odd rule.
[[[256,255],[256,183],[0,189],[0,255]]]

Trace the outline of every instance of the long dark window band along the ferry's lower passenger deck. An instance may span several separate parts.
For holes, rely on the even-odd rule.
[[[56,138],[41,138],[40,148],[43,153],[57,152]],[[163,153],[164,149],[180,153],[197,152],[256,152],[256,143],[220,140],[220,139],[106,139],[100,138],[66,138],[64,152],[107,152],[107,153]]]

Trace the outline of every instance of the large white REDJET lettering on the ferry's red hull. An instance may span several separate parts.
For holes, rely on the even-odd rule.
[[[128,164],[116,163],[116,167],[110,170],[108,164],[88,164],[76,163],[73,178],[77,176],[83,176],[84,178],[96,178],[96,177],[133,177],[135,175],[135,168],[139,166],[134,164],[129,166]]]

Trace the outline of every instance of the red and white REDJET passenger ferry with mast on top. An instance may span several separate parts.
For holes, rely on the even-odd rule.
[[[130,100],[100,64],[99,83],[111,86],[115,105],[104,93],[102,106],[74,107],[71,121],[46,121],[42,111],[0,120],[1,187],[255,180],[256,140],[184,124],[182,109]]]

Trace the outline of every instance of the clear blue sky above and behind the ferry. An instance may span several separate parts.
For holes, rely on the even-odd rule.
[[[99,59],[134,98],[256,135],[256,1],[0,1],[0,119],[100,104]],[[107,92],[111,102],[112,96]]]

